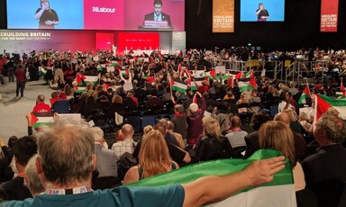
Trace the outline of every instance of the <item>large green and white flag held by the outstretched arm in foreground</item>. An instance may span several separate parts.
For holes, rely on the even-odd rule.
[[[187,184],[206,175],[228,175],[241,171],[252,161],[269,157],[278,157],[280,153],[273,149],[259,149],[250,158],[244,159],[217,159],[190,166],[183,166],[168,173],[142,179],[128,186],[163,186],[168,184]],[[215,186],[217,187],[217,186]],[[212,190],[212,189],[211,189]],[[250,187],[240,193],[232,195],[223,201],[206,206],[280,206],[295,207],[296,192],[291,166],[274,175],[274,180],[268,184]]]

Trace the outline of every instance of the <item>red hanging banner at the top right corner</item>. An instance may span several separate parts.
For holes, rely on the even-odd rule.
[[[338,6],[339,0],[321,1],[321,32],[338,31]]]

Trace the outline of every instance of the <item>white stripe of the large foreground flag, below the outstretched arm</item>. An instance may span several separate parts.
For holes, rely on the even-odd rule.
[[[263,186],[248,192],[233,195],[221,202],[209,204],[210,207],[296,207],[296,192],[294,184]]]

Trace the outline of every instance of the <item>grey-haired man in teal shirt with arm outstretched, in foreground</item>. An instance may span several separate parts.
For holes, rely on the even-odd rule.
[[[268,183],[285,167],[285,157],[272,157],[252,162],[240,172],[205,176],[189,184],[123,185],[94,191],[90,186],[96,168],[95,140],[87,124],[55,121],[37,140],[37,172],[46,191],[23,202],[2,202],[2,206],[199,206]]]

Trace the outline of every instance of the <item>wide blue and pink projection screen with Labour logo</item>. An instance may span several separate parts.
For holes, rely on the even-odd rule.
[[[185,31],[185,0],[7,0],[8,29]]]

